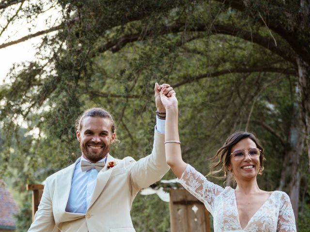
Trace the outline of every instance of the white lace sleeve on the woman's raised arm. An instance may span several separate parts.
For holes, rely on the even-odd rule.
[[[217,196],[224,190],[220,186],[210,182],[201,173],[187,164],[184,173],[178,182],[192,195],[199,199],[213,214],[214,203]]]

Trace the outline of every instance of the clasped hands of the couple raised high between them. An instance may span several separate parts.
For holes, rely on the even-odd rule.
[[[178,105],[178,101],[175,97],[175,91],[170,85],[158,85],[158,83],[155,83],[154,92],[156,108],[159,112],[166,112],[166,109]]]

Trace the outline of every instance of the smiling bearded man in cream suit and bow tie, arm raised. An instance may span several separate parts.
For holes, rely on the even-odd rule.
[[[130,217],[132,202],[141,188],[168,172],[165,159],[165,108],[155,84],[157,108],[152,154],[138,161],[117,160],[109,154],[115,126],[109,112],[93,108],[77,123],[82,156],[72,165],[47,177],[38,211],[28,232],[135,232]]]

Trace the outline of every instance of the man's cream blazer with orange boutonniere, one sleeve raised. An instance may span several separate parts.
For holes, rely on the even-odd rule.
[[[47,177],[38,211],[28,232],[135,232],[130,208],[141,188],[160,180],[169,170],[165,159],[164,134],[155,130],[152,154],[138,161],[117,160],[98,173],[85,214],[65,211],[75,164]]]

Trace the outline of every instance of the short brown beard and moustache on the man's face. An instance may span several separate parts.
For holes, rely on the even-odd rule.
[[[93,146],[102,146],[102,148],[99,151],[92,151],[89,145]],[[99,160],[103,159],[106,157],[109,153],[111,144],[106,145],[105,143],[85,143],[85,144],[80,144],[80,148],[82,151],[82,154],[85,156],[87,160],[90,160],[92,162],[98,162]]]

